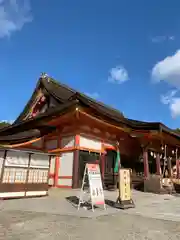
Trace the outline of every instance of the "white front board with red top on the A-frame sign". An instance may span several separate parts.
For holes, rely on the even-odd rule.
[[[98,164],[86,164],[91,201],[93,205],[105,204],[104,202],[104,192],[102,187],[101,172]]]

